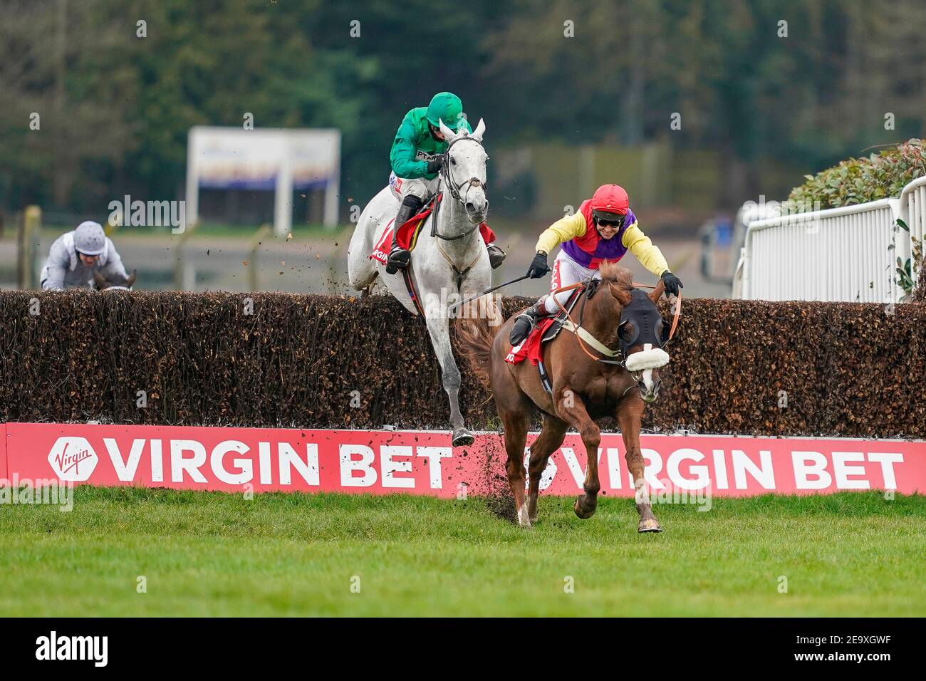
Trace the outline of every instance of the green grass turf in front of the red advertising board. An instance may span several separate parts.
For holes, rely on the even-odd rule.
[[[630,499],[542,496],[524,530],[485,498],[75,492],[0,506],[0,615],[926,614],[923,496],[660,505],[638,535]]]

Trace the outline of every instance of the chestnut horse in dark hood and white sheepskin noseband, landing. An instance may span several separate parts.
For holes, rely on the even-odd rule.
[[[647,296],[634,289],[631,272],[617,264],[602,263],[599,271],[601,280],[586,284],[581,294],[585,299],[572,308],[571,328],[564,327],[544,344],[543,361],[552,395],[544,389],[537,367],[529,359],[518,364],[505,361],[511,350],[508,334],[515,315],[494,326],[484,319],[460,320],[457,335],[473,371],[491,388],[504,423],[508,484],[521,526],[529,527],[537,518],[541,474],[570,427],[582,435],[588,460],[584,494],[576,498],[573,508],[582,519],[592,517],[600,489],[601,431],[595,421],[615,417],[636,488],[638,531],[661,532],[645,493],[640,424],[644,400],[652,402],[658,394],[657,368],[669,361],[669,355],[659,347],[662,319],[656,308],[665,287],[660,280]],[[535,410],[542,412],[544,427],[531,446],[530,490],[525,504],[524,445]]]

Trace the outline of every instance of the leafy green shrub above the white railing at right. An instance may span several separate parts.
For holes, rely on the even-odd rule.
[[[805,175],[807,182],[788,196],[795,212],[852,206],[900,195],[907,183],[926,175],[926,146],[913,138],[868,158],[849,158],[838,166]]]

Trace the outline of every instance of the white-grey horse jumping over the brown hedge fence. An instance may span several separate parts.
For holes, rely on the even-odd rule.
[[[441,365],[444,390],[450,399],[453,446],[461,447],[472,444],[473,435],[467,430],[459,408],[460,372],[450,347],[448,307],[484,291],[492,282],[489,255],[479,233],[479,225],[489,209],[485,178],[488,156],[482,148],[485,132],[482,120],[471,133],[462,128],[452,132],[443,120],[439,122],[448,142],[439,184],[444,196],[437,210],[421,226],[408,267],[418,290],[434,353]],[[363,209],[347,250],[348,277],[351,286],[361,291],[369,291],[369,286],[379,277],[409,312],[418,315],[402,271],[388,274],[384,264],[369,258],[398,209],[399,199],[389,186]],[[501,313],[494,309],[494,298],[492,300],[493,309],[488,314],[497,314],[495,318],[500,320]]]

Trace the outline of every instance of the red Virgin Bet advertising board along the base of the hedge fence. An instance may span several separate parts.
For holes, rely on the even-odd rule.
[[[452,448],[445,431],[291,430],[6,423],[0,477],[175,489],[408,493],[456,497],[505,485],[496,433]],[[528,444],[536,434],[529,435]],[[732,435],[643,435],[650,487],[714,496],[894,489],[926,492],[926,442]],[[602,435],[605,494],[633,486],[620,435]],[[567,435],[544,472],[546,494],[582,486],[585,449]]]

